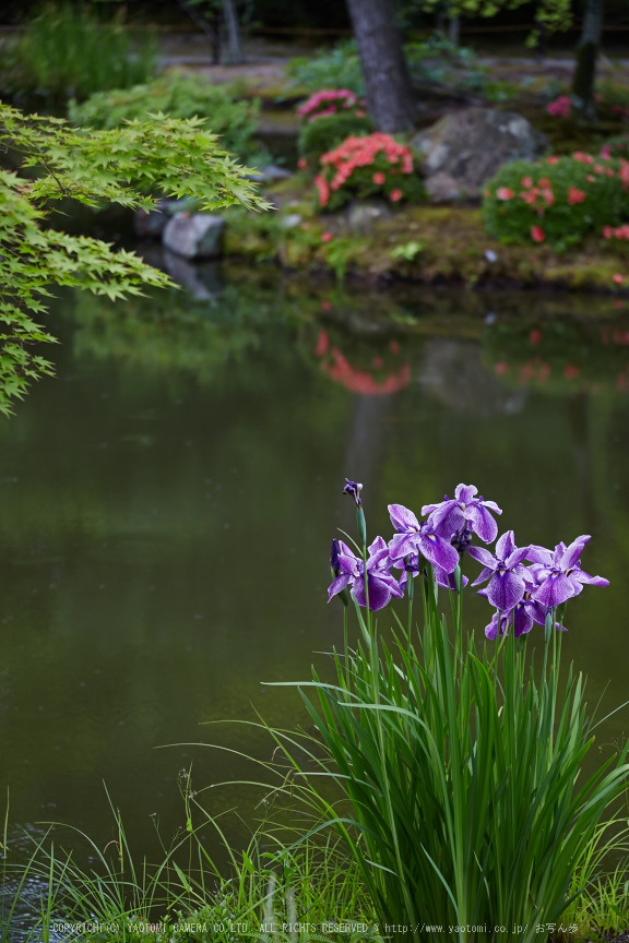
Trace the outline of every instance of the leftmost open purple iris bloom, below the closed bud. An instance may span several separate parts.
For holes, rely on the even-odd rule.
[[[367,558],[369,609],[382,609],[392,596],[402,597],[404,589],[389,572],[391,558],[382,537],[377,537],[367,549],[369,552]],[[339,540],[336,562],[340,568],[340,575],[328,589],[328,601],[348,586],[358,605],[365,606],[365,565],[361,558],[357,557],[343,540]]]

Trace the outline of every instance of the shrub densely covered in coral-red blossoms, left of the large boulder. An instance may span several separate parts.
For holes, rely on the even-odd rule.
[[[422,196],[411,148],[390,134],[347,138],[323,154],[320,168],[314,184],[322,210],[336,210],[354,196],[383,195],[392,203]]]

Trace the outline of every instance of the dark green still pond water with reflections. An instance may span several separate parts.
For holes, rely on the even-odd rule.
[[[179,771],[199,787],[247,775],[234,753],[167,744],[270,757],[256,728],[202,725],[306,724],[296,692],[261,682],[307,680],[341,641],[325,599],[331,538],[354,526],[344,476],[365,485],[372,536],[391,535],[388,503],[418,511],[460,481],[521,544],[591,534],[583,564],[612,585],[569,607],[566,652],[592,704],[627,699],[629,320],[612,299],[192,275],[197,298],[63,296],[58,377],[0,423],[13,834],[61,821],[104,847],[106,786],[156,859],[156,822],[166,844],[185,822]],[[482,633],[486,604],[466,606]],[[236,802],[256,815],[245,787],[210,808]]]

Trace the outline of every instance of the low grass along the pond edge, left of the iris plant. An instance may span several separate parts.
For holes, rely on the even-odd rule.
[[[66,851],[55,824],[12,862],[5,822],[0,943],[384,943],[336,836],[289,849],[286,827],[264,822],[235,851],[224,816],[207,814],[186,771],[179,783],[186,827],[169,847],[161,841],[153,864],[133,856],[114,807],[115,837],[105,847],[70,828],[74,850]],[[87,866],[76,860],[78,841]]]

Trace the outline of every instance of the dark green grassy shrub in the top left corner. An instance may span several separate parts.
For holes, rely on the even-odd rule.
[[[23,87],[81,99],[149,81],[155,73],[155,55],[152,33],[144,33],[132,52],[121,11],[105,21],[94,7],[69,2],[40,7],[14,50]]]

